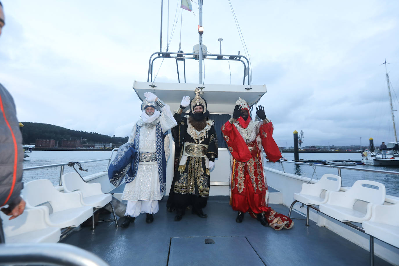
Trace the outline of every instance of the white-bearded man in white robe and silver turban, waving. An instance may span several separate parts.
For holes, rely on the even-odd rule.
[[[135,176],[132,181],[127,179],[122,194],[122,199],[128,201],[122,227],[128,227],[140,213],[147,214],[147,223],[154,221],[152,214],[158,212],[158,201],[166,188],[165,169],[170,154],[167,132],[177,125],[168,104],[150,92],[144,93],[144,97],[141,118],[133,126],[128,140],[135,147],[137,156],[136,163],[131,166]]]

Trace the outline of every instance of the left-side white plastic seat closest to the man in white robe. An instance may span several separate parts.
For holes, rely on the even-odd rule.
[[[85,206],[91,206],[98,211],[107,204],[111,205],[114,219],[106,221],[115,221],[118,227],[117,216],[115,214],[114,205],[111,203],[112,195],[110,193],[103,193],[100,183],[86,183],[78,173],[65,173],[61,176],[65,192],[78,192],[81,195],[81,203]],[[94,212],[95,212],[94,211]],[[97,221],[105,222],[105,221]],[[94,213],[92,215],[92,223],[94,229]]]

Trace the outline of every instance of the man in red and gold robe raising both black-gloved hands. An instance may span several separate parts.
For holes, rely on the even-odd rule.
[[[273,140],[273,124],[266,118],[265,108],[257,107],[260,122],[251,121],[249,107],[239,98],[235,103],[233,117],[221,128],[228,149],[233,156],[231,173],[230,204],[238,211],[235,221],[241,223],[244,213],[257,218],[263,226],[270,225],[276,230],[290,229],[291,219],[268,207],[268,191],[263,173],[263,152],[272,162],[281,158],[281,153]]]

